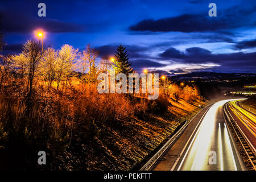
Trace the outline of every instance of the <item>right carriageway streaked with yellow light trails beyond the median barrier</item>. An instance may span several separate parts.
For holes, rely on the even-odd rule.
[[[256,115],[241,106],[241,101],[231,101],[228,104],[229,113],[240,127],[250,145],[256,148]]]

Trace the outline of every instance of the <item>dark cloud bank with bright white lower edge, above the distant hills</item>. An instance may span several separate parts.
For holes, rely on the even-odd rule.
[[[203,67],[204,69],[214,70],[214,67],[215,67],[214,65],[220,65],[218,69],[222,69],[223,72],[230,72],[232,70],[234,72],[237,72],[237,70],[255,72],[256,70],[255,57],[256,57],[256,52],[249,52],[249,53],[235,52],[235,53],[213,54],[209,50],[203,49],[200,47],[187,48],[185,49],[184,52],[181,52],[175,48],[169,48],[159,55],[159,59],[174,60],[176,64],[188,65],[188,67],[189,65],[190,67],[192,67],[192,65],[201,65],[201,67]],[[210,66],[210,65],[213,65],[213,66]],[[176,68],[171,71],[175,71],[180,68]],[[183,71],[184,70],[187,71],[188,68],[183,69]]]

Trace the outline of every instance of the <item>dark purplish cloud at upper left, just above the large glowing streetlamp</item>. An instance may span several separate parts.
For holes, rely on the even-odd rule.
[[[15,12],[0,12],[2,16],[2,31],[15,33],[29,33],[42,27],[48,32],[84,32],[86,27],[77,23],[62,22],[56,19],[32,18]]]

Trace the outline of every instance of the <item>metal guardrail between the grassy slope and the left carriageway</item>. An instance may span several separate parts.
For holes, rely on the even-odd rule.
[[[212,104],[210,104],[212,105]],[[208,106],[210,106],[208,105]],[[206,107],[208,107],[206,106]],[[204,107],[204,108],[206,108]],[[200,113],[201,111],[199,111]],[[197,113],[197,114],[199,114]],[[183,133],[184,129],[189,125],[189,123],[197,116],[197,114],[190,120],[187,121],[175,134],[174,136],[172,136],[164,145],[163,147],[160,148],[160,150],[158,152],[156,152],[156,154],[154,156],[152,156],[152,158],[150,158],[150,160],[148,160],[148,162],[146,164],[144,164],[144,166],[142,166],[141,169],[139,169],[140,171],[148,171],[156,162],[156,160],[158,160],[160,158],[160,156],[167,150],[168,147],[171,146],[171,144],[180,136],[181,133]]]

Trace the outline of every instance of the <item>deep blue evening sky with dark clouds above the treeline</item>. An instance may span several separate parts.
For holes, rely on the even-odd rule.
[[[46,17],[38,3],[46,3]],[[208,5],[217,5],[217,17]],[[60,49],[86,44],[113,55],[127,47],[137,71],[246,72],[256,70],[255,1],[5,1],[0,2],[5,53],[17,53],[34,31]]]

